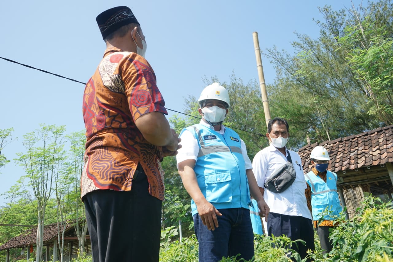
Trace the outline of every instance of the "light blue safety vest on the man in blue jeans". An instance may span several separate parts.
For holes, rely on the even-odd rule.
[[[248,209],[251,203],[250,189],[239,135],[228,127],[221,135],[202,124],[185,129],[195,136],[199,144],[194,172],[206,200],[217,209]],[[198,212],[193,199],[191,210],[192,215]]]

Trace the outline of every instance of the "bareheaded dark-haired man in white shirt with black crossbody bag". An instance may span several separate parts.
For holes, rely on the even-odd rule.
[[[301,159],[298,153],[285,147],[289,137],[288,129],[288,123],[283,118],[276,117],[269,121],[266,137],[271,144],[255,155],[252,167],[259,190],[270,207],[267,220],[268,235],[285,235],[291,240],[304,240],[305,246],[298,243],[298,247],[291,247],[298,251],[303,259],[307,256],[307,249],[315,249],[314,229],[305,197],[307,185]],[[292,162],[296,172],[296,179],[292,185],[280,193],[268,190],[265,182],[288,161]]]

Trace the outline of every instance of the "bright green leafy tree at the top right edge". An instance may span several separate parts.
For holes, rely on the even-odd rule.
[[[385,125],[393,124],[392,9],[387,0],[351,9],[351,22],[338,38],[371,105],[367,113]]]

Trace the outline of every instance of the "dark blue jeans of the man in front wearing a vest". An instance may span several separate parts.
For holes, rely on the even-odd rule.
[[[202,223],[199,214],[193,216],[194,230],[199,242],[199,262],[216,262],[222,257],[237,256],[250,260],[254,256],[254,234],[250,210],[246,208],[219,209],[219,227],[214,231]]]

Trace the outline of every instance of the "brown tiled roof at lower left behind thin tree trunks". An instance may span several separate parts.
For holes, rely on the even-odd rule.
[[[66,231],[69,231],[71,228],[73,228],[73,225],[68,224],[66,226]],[[57,239],[57,223],[44,226],[44,243],[53,243],[54,239]],[[36,240],[37,227],[34,227],[32,229],[28,229],[22,232],[19,236],[15,236],[14,238],[1,245],[0,250],[35,245]]]

